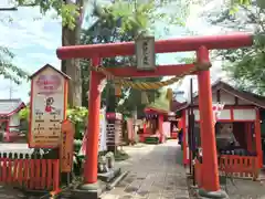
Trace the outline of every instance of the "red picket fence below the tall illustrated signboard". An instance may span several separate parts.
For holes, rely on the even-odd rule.
[[[60,190],[59,159],[29,159],[0,154],[0,182],[28,190]],[[29,157],[29,156],[28,156]]]

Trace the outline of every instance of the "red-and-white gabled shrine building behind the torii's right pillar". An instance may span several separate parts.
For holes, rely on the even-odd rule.
[[[194,140],[197,139],[194,142],[197,146],[193,145],[194,148],[201,147],[199,97],[195,95],[193,100],[193,136],[195,137]],[[265,97],[240,91],[223,81],[218,81],[212,84],[212,100],[213,104],[224,104],[215,124],[219,157],[225,157],[225,164],[230,164],[230,169],[233,168],[231,172],[240,172],[241,176],[242,172],[257,172],[263,167],[261,112],[265,109]],[[186,124],[183,125],[183,164],[186,165],[191,163],[188,115],[190,108],[191,106],[188,103],[182,103],[177,109],[182,114],[182,122]],[[223,137],[225,132],[232,132],[236,144],[230,148],[222,149],[222,147],[219,148],[219,138]],[[227,161],[227,159],[231,159],[231,161]],[[237,159],[240,160],[237,161]]]

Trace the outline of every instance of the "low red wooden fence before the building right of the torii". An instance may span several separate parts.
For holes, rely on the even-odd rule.
[[[257,179],[259,167],[256,156],[221,155],[219,158],[221,175]]]

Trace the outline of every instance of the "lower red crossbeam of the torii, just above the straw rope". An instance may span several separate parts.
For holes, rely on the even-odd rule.
[[[194,64],[176,64],[176,65],[159,65],[155,71],[137,71],[136,66],[125,67],[108,67],[115,76],[121,77],[156,77],[156,76],[172,76],[181,75],[194,67]]]

